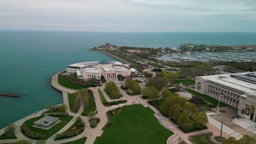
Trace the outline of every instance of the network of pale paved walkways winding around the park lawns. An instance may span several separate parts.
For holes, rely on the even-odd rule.
[[[59,72],[59,73],[61,73],[61,72]],[[68,106],[68,93],[74,93],[74,92],[77,92],[77,90],[70,89],[70,88],[65,88],[65,87],[62,87],[61,85],[59,85],[59,83],[57,81],[57,75],[59,73],[53,75],[52,80],[51,80],[51,85],[54,88],[56,88],[57,90],[62,92],[63,103]],[[156,114],[158,115],[160,124],[163,125],[164,127],[166,127],[167,129],[173,131],[173,133],[175,135],[171,136],[167,140],[167,143],[173,143],[173,140],[177,140],[179,137],[181,137],[182,140],[184,140],[185,142],[190,144],[191,142],[188,140],[189,135],[204,133],[204,132],[207,132],[207,131],[213,132],[214,135],[219,135],[219,133],[220,133],[219,123],[214,122],[211,118],[208,117],[208,119],[210,119],[209,123],[207,124],[208,129],[200,130],[200,131],[195,131],[195,132],[191,132],[191,133],[185,134],[185,133],[183,133],[183,131],[181,131],[178,128],[178,125],[172,123],[169,118],[166,118],[166,117],[162,116],[161,113],[157,109],[155,109],[154,106],[149,105],[147,103],[147,101],[148,101],[147,99],[142,99],[141,95],[130,96],[123,89],[120,88],[121,83],[117,82],[117,85],[118,85],[118,87],[120,89],[120,93],[123,95],[123,97],[121,97],[120,99],[127,100],[127,103],[106,107],[106,106],[104,106],[102,104],[100,95],[98,93],[98,87],[91,88],[92,92],[94,93],[95,103],[96,103],[96,106],[97,106],[97,114],[96,114],[95,117],[100,118],[100,123],[98,123],[97,127],[96,128],[90,128],[90,123],[89,123],[88,117],[81,116],[81,113],[84,110],[84,106],[82,104],[80,106],[80,109],[79,109],[78,113],[73,113],[69,109],[67,110],[67,113],[69,115],[71,115],[71,116],[74,116],[74,118],[67,125],[65,125],[65,127],[63,127],[60,131],[58,131],[56,134],[62,133],[63,131],[65,131],[69,127],[71,127],[71,125],[76,121],[75,117],[78,117],[78,116],[80,116],[83,119],[83,122],[85,122],[85,130],[83,131],[83,133],[78,135],[78,136],[74,136],[72,138],[65,139],[65,140],[59,140],[59,141],[54,141],[55,135],[56,135],[56,134],[54,134],[48,140],[46,140],[46,143],[65,143],[65,142],[70,142],[70,141],[78,140],[78,139],[80,139],[82,137],[87,137],[87,140],[86,140],[85,144],[87,144],[87,143],[88,144],[94,143],[94,141],[96,140],[97,136],[101,136],[102,135],[102,133],[103,133],[102,128],[104,127],[104,125],[108,121],[108,118],[107,118],[107,115],[106,115],[107,111],[115,109],[116,107],[120,107],[120,106],[123,106],[123,105],[132,105],[134,103],[142,104],[144,106],[148,106],[150,109],[152,109],[154,112],[156,112]],[[104,97],[107,99],[107,101],[120,100],[120,99],[114,99],[114,100],[110,99],[108,97],[108,95],[106,94],[106,92],[104,92],[104,86],[101,86],[100,89],[101,89]],[[18,140],[29,140],[32,143],[36,142],[36,140],[31,140],[31,139],[28,139],[26,136],[24,136],[21,133],[21,131],[20,131],[20,126],[27,119],[40,116],[40,114],[43,113],[44,111],[45,110],[39,111],[37,113],[33,113],[32,115],[30,115],[28,117],[25,117],[25,118],[22,118],[19,121],[14,123],[17,126],[17,128],[15,130],[15,135],[16,135],[16,137],[18,137]],[[1,133],[3,133],[3,130],[0,130],[0,134]],[[229,131],[228,130],[224,131],[223,136],[224,137],[229,137],[229,135],[226,134],[226,133],[229,133]],[[17,140],[0,140],[0,143],[9,143],[9,142],[15,142],[15,141],[17,141]],[[175,141],[174,143],[177,143],[177,142],[178,141]]]

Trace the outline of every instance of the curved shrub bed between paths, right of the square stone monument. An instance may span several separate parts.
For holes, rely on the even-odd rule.
[[[68,139],[69,137],[77,136],[84,131],[85,124],[81,117],[77,117],[77,124],[68,131],[64,131],[61,134],[56,134],[55,140]]]

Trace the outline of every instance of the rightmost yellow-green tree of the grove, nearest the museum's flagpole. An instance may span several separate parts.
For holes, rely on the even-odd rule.
[[[208,118],[205,112],[196,112],[192,119],[198,128],[202,128],[208,123]]]

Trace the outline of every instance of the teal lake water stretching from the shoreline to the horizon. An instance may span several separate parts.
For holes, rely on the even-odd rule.
[[[89,51],[101,44],[140,47],[176,47],[184,43],[251,45],[256,33],[103,33],[0,31],[0,129],[47,104],[62,103],[62,94],[50,86],[51,76],[75,62],[113,58]]]

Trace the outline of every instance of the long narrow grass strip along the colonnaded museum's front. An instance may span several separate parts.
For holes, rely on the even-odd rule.
[[[191,90],[189,88],[184,88],[183,90],[188,92],[188,93],[191,93],[193,95],[202,97],[203,100],[205,100],[205,101],[207,101],[207,102],[209,102],[209,103],[211,103],[213,105],[218,106],[219,101],[217,99],[211,98],[211,97],[209,97],[208,95],[205,95],[205,94],[201,94],[201,93],[195,92],[195,91],[193,91],[193,90]],[[223,107],[223,106],[228,106],[228,105],[225,104],[225,103],[222,103],[222,101],[220,101],[219,107]]]

